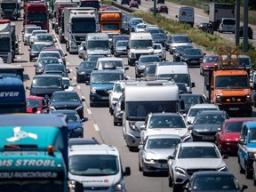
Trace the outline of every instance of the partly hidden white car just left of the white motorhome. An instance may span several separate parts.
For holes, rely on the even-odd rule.
[[[123,84],[123,81],[116,81],[116,83],[113,86],[112,90],[108,91],[108,99],[109,99],[109,113],[113,115],[114,109],[116,107],[117,100],[122,95],[122,88],[121,84]]]

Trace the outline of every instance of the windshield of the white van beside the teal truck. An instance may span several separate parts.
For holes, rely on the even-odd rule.
[[[68,164],[68,171],[74,175],[106,176],[119,172],[118,158],[113,155],[69,156]]]

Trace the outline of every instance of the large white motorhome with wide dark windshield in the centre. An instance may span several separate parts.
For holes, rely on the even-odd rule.
[[[121,84],[123,97],[123,135],[130,150],[140,145],[140,126],[149,113],[180,112],[184,102],[174,81],[132,81]]]

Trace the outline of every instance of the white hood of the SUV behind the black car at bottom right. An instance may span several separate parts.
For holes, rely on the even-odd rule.
[[[185,169],[218,169],[226,166],[222,158],[181,158],[175,167],[182,167]]]

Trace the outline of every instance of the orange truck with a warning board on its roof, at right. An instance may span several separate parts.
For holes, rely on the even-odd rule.
[[[221,110],[252,116],[250,74],[239,67],[238,56],[238,47],[220,47],[219,63],[204,73],[204,94]]]

